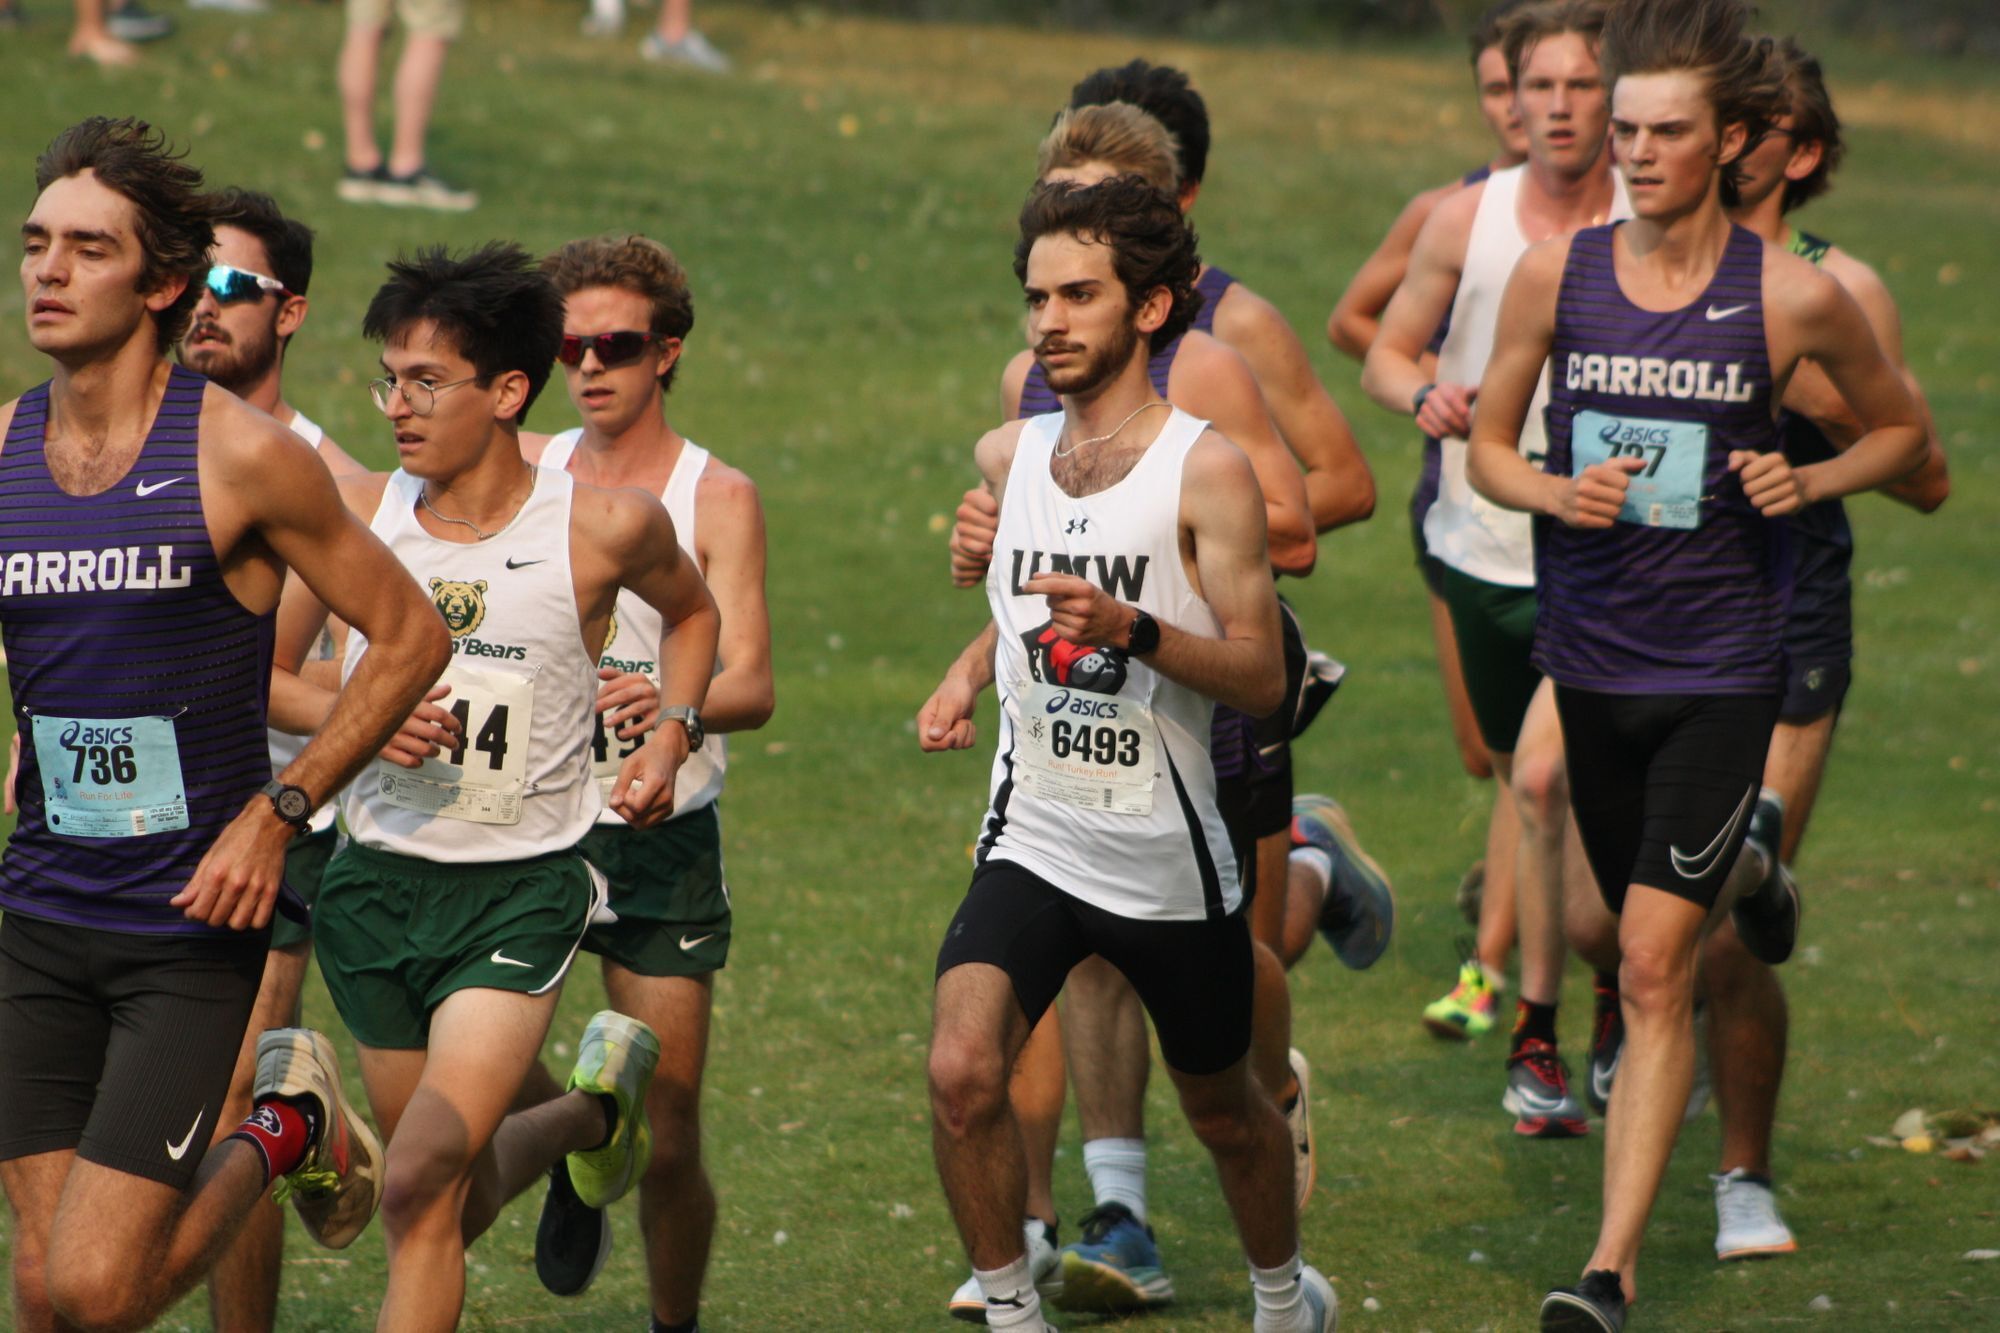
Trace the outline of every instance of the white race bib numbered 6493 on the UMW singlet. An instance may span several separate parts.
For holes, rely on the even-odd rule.
[[[1014,781],[1042,801],[1152,815],[1160,729],[1136,699],[1038,681],[1020,687]]]

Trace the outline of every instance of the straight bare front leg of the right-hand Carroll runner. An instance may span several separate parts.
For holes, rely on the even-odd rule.
[[[1588,1269],[1612,1269],[1638,1295],[1638,1251],[1694,1085],[1694,957],[1706,913],[1632,885],[1618,939],[1626,1041],[1604,1119],[1604,1221]]]

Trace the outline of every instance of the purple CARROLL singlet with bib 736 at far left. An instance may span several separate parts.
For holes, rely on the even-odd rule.
[[[14,406],[0,448],[0,634],[22,741],[20,823],[0,859],[8,913],[214,931],[168,899],[270,781],[276,618],[236,600],[208,542],[206,386],[174,366],[132,470],[92,496],[48,470],[48,384]],[[82,835],[64,833],[64,811]]]

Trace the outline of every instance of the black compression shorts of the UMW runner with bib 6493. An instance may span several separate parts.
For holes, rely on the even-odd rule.
[[[1172,1069],[1222,1073],[1250,1051],[1250,925],[1242,909],[1202,921],[1136,921],[1070,897],[1012,861],[988,859],[944,933],[938,977],[964,963],[998,967],[1032,1029],[1070,969],[1094,953],[1138,991]]]

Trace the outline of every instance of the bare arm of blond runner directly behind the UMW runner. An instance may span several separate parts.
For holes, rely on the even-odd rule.
[[[1306,504],[1306,478],[1278,436],[1250,362],[1216,338],[1190,332],[1174,356],[1168,390],[1174,406],[1212,422],[1250,460],[1264,496],[1270,566],[1282,574],[1310,574],[1320,542]]]

